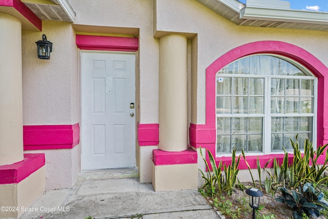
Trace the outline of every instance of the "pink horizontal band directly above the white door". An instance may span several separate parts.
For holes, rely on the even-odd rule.
[[[87,50],[137,51],[139,39],[132,37],[76,35],[76,46]]]

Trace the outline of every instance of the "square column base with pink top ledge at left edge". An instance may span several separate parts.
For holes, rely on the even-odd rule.
[[[0,166],[0,218],[20,217],[45,191],[44,154],[24,154],[24,160]],[[7,209],[6,209],[7,208]]]

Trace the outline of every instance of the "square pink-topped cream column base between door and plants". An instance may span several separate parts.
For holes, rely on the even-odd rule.
[[[198,188],[197,152],[153,151],[152,186],[155,191]]]

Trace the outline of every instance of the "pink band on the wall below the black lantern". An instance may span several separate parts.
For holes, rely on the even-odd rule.
[[[71,149],[79,143],[79,124],[24,126],[24,150]]]

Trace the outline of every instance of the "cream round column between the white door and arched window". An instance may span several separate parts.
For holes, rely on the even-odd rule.
[[[159,149],[188,148],[187,37],[159,39]]]

